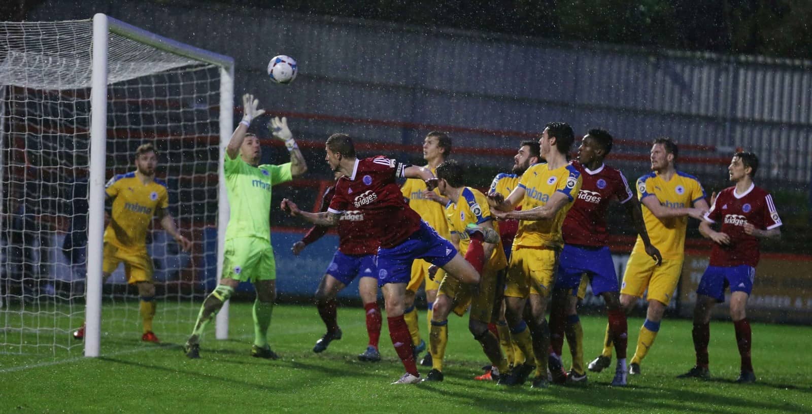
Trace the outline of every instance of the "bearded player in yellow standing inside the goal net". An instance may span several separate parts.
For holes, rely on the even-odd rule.
[[[178,233],[175,220],[166,211],[169,206],[166,183],[155,178],[158,154],[153,144],[138,147],[135,162],[135,171],[115,175],[105,188],[106,200],[113,202],[110,224],[104,232],[102,280],[110,278],[119,263],[124,263],[127,283],[138,287],[144,330],[141,340],[158,343],[158,337],[153,333],[156,308],[153,266],[146,245],[146,235],[153,216],[158,216],[163,229],[184,251],[192,247],[192,242]],[[84,339],[84,325],[73,333],[73,337]]]

